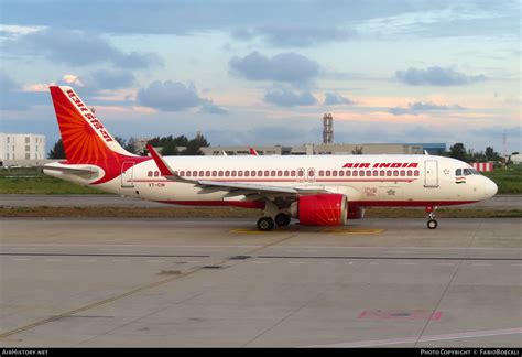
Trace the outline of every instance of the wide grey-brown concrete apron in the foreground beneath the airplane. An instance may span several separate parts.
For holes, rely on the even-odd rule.
[[[520,347],[522,219],[0,219],[2,347]]]

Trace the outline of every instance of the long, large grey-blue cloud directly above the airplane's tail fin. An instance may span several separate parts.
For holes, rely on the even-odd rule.
[[[6,41],[8,52],[21,55],[42,55],[55,63],[87,66],[111,63],[122,68],[150,68],[162,64],[153,53],[124,53],[97,34],[45,29]]]

